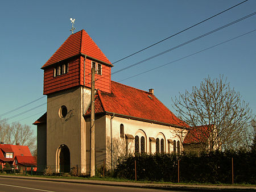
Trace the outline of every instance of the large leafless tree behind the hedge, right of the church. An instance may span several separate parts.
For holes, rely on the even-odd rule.
[[[191,93],[186,90],[172,101],[179,118],[189,126],[208,126],[208,134],[197,139],[202,143],[207,139],[210,150],[236,149],[244,144],[242,135],[247,131],[251,110],[223,76],[213,80],[208,76],[200,87],[193,87]]]

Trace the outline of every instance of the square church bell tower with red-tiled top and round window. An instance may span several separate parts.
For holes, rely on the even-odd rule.
[[[92,66],[95,88],[111,93],[113,65],[85,30],[70,35],[42,66],[47,95],[45,158],[53,172],[69,172],[76,165],[80,173],[88,172],[83,115],[90,105]]]

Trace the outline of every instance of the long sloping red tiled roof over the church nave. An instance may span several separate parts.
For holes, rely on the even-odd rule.
[[[112,112],[150,122],[189,127],[177,118],[155,95],[112,81],[111,93],[97,90],[95,112]],[[90,114],[90,107],[85,115]]]

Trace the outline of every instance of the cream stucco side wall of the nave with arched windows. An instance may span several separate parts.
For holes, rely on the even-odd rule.
[[[112,124],[112,126],[111,126]],[[114,161],[117,160],[117,156],[126,155],[126,138],[120,137],[120,124],[124,126],[125,134],[130,134],[135,136],[139,136],[139,147],[141,147],[141,137],[145,138],[145,148],[146,153],[155,153],[155,141],[150,141],[150,137],[154,137],[154,139],[164,140],[164,152],[173,152],[174,146],[172,143],[168,144],[168,139],[174,141],[179,140],[180,143],[184,140],[185,135],[187,134],[187,130],[181,128],[175,128],[171,126],[164,126],[161,124],[142,122],[139,120],[121,118],[113,115],[106,115],[106,148],[111,144],[111,127],[112,127],[112,151],[113,151],[113,164]],[[134,153],[134,139],[130,140],[132,143],[129,143],[128,153]],[[160,143],[159,143],[160,146]],[[183,150],[182,146],[181,150]],[[107,150],[108,151],[108,150]],[[106,158],[108,163],[111,161],[110,152],[106,154]],[[114,165],[113,165],[114,166]]]

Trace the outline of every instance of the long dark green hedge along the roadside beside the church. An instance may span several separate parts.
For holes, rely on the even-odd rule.
[[[171,154],[137,154],[119,161],[114,176],[135,180],[177,182],[177,159],[180,164],[180,182],[232,183],[232,157],[234,182],[255,184],[255,152],[201,152]]]

